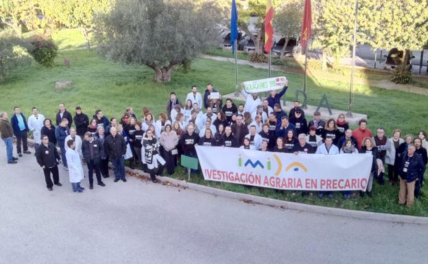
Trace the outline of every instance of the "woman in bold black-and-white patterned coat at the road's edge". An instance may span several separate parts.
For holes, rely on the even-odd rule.
[[[157,182],[156,176],[163,176],[163,165],[165,160],[159,154],[160,144],[156,140],[152,130],[147,130],[143,136],[141,148],[141,157],[147,165],[147,171],[150,174],[152,182]]]

